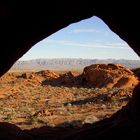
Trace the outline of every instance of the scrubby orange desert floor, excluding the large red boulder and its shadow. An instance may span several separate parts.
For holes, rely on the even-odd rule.
[[[61,72],[59,72],[60,74]],[[77,72],[78,73],[78,72]],[[127,104],[132,90],[49,82],[41,74],[6,73],[0,79],[0,121],[22,129],[82,126],[110,117]],[[54,78],[55,79],[55,78]],[[54,84],[55,83],[55,84]]]

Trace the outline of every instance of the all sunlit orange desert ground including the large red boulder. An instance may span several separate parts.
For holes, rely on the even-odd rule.
[[[139,81],[134,72],[120,64],[93,64],[82,71],[9,71],[0,78],[0,121],[21,129],[92,124],[128,103]]]

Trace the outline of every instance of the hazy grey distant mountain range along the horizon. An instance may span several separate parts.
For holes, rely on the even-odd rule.
[[[119,63],[133,69],[140,67],[140,60],[125,59],[81,59],[81,58],[58,58],[58,59],[34,59],[17,61],[11,70],[82,70],[91,64]]]

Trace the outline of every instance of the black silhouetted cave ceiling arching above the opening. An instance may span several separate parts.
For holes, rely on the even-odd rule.
[[[104,5],[104,7],[101,6]],[[111,4],[111,3],[110,3]],[[139,10],[122,4],[71,2],[0,3],[0,75],[34,44],[71,23],[98,16],[126,41],[137,54],[139,49]],[[54,50],[55,51],[55,50]]]

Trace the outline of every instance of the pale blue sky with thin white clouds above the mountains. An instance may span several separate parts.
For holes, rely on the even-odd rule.
[[[95,16],[38,42],[20,60],[38,58],[139,59],[127,43]]]

